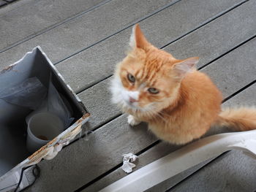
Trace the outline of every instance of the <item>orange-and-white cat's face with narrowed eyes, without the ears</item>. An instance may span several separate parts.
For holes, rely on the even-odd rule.
[[[158,50],[148,54],[137,50],[118,64],[112,85],[113,101],[124,110],[159,110],[176,96],[179,82],[173,78],[172,62],[157,55]]]

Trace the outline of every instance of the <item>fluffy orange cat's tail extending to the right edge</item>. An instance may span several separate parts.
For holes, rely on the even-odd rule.
[[[256,108],[240,107],[222,110],[216,123],[217,126],[232,128],[234,131],[256,129]]]

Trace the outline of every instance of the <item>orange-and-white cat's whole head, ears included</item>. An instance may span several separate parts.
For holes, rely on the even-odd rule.
[[[150,45],[138,26],[130,45],[132,50],[118,64],[112,81],[113,102],[125,112],[157,112],[168,107],[178,96],[184,70],[192,67],[191,62],[180,65],[184,61]]]

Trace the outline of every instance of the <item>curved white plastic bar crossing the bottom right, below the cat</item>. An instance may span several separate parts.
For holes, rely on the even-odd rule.
[[[246,154],[256,158],[256,130],[217,134],[200,139],[143,166],[143,168],[103,188],[101,192],[146,191],[192,166],[232,149],[243,150]]]

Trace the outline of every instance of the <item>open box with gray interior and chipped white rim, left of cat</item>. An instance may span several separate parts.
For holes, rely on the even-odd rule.
[[[69,108],[72,108],[74,120],[58,137],[30,154],[26,150],[25,118],[31,110],[0,99],[0,191],[10,191],[15,188],[23,167],[37,164],[42,158],[54,158],[62,146],[68,145],[80,133],[83,123],[89,120],[90,114],[86,107],[40,47],[35,47],[20,61],[0,72],[0,93],[4,88],[18,85],[29,77],[37,77],[46,87],[51,77],[57,91],[64,96]],[[26,183],[22,185],[21,188],[26,186]]]

